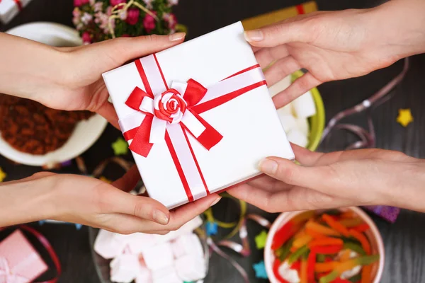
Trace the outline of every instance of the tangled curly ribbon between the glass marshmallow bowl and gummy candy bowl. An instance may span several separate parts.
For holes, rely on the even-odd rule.
[[[222,197],[229,197],[232,200],[234,197],[231,197],[227,193],[223,194]],[[205,212],[205,216],[208,221],[215,222],[217,225],[224,229],[231,229],[234,227],[234,229],[227,234],[227,236],[224,237],[223,240],[217,241],[216,243],[213,241],[211,237],[208,237],[207,243],[208,246],[210,246],[210,249],[213,250],[217,255],[220,255],[225,260],[229,261],[230,264],[233,265],[233,267],[240,273],[242,278],[244,279],[245,283],[249,283],[249,277],[244,270],[244,268],[237,263],[236,260],[231,258],[229,255],[227,255],[223,250],[220,249],[220,247],[229,248],[230,250],[233,250],[235,253],[238,253],[239,255],[242,255],[242,257],[246,258],[251,254],[251,248],[249,247],[249,233],[248,229],[246,227],[246,221],[252,220],[255,221],[257,224],[263,226],[266,229],[269,229],[271,226],[270,221],[263,218],[263,216],[257,215],[257,214],[247,214],[246,215],[246,202],[243,202],[242,200],[237,200],[240,205],[240,216],[239,220],[236,222],[222,222],[217,221],[214,219],[214,216],[212,214],[212,208],[208,209]],[[241,238],[241,243],[236,243],[234,241],[230,241],[229,238],[232,238],[239,232],[239,238]]]

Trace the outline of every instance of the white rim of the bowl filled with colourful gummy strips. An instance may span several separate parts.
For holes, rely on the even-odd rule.
[[[371,279],[373,279],[373,281],[370,283],[379,283],[380,279],[382,278],[382,272],[384,270],[385,265],[385,250],[382,237],[379,233],[378,228],[376,228],[375,223],[372,219],[370,219],[368,214],[363,212],[363,210],[358,207],[346,207],[341,208],[339,210],[342,212],[351,210],[352,212],[357,214],[361,219],[363,219],[363,221],[365,221],[365,223],[368,224],[368,226],[370,227],[370,229],[365,233],[365,235],[370,241],[372,253],[380,255],[378,264],[373,265],[372,276],[370,277]],[[280,227],[282,227],[290,219],[293,219],[295,216],[301,213],[302,212],[284,212],[283,214],[280,214],[278,218],[273,222],[270,231],[268,231],[266,247],[264,248],[264,263],[266,265],[268,279],[271,283],[280,283],[273,273],[273,262],[275,260],[275,256],[273,254],[273,251],[271,250],[271,243],[273,242],[274,235],[276,234],[276,231],[280,229]]]

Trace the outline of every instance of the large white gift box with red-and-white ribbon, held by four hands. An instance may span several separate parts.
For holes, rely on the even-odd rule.
[[[259,175],[262,158],[294,158],[243,32],[235,23],[103,74],[147,192],[169,209]]]

